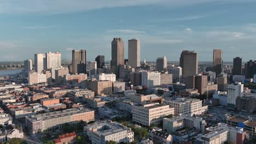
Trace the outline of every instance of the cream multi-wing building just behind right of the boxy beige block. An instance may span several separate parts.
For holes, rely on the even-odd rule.
[[[165,104],[175,108],[174,115],[185,114],[189,116],[202,115],[208,106],[202,106],[202,100],[191,98],[170,98],[164,100]]]

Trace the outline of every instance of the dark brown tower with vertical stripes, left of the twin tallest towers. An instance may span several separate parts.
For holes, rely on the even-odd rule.
[[[72,50],[72,73],[86,74],[86,50]]]

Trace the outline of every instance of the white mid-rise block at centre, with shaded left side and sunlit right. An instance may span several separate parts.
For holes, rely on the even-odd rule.
[[[141,73],[141,85],[148,88],[160,85],[161,73],[158,71],[143,71]]]

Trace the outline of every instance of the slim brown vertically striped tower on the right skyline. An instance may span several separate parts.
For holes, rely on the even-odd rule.
[[[213,71],[216,75],[222,73],[222,50],[214,49],[213,50]]]

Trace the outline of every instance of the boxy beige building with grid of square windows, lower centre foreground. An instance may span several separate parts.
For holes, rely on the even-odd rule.
[[[159,103],[146,103],[132,106],[132,121],[150,126],[160,124],[165,116],[174,115],[174,108]]]

